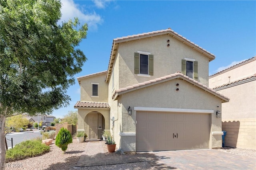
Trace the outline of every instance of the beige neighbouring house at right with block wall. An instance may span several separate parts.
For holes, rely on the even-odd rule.
[[[225,146],[256,149],[256,57],[213,74],[209,87],[230,98],[222,104]]]

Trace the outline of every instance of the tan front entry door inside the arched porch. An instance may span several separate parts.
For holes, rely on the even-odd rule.
[[[98,113],[89,113],[89,139],[98,139]]]

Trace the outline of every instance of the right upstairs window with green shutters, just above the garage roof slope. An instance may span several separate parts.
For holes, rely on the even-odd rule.
[[[194,80],[198,80],[198,62],[194,59],[184,59],[182,60],[181,66],[182,74],[192,78]]]

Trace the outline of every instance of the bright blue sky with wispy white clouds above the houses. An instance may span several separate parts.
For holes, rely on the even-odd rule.
[[[62,0],[61,21],[78,17],[88,23],[80,49],[88,61],[76,77],[107,70],[114,38],[158,31],[175,32],[216,56],[209,75],[256,55],[256,1]],[[76,111],[80,86],[70,86],[70,106],[52,114]]]

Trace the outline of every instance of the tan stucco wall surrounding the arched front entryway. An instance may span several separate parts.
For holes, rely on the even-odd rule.
[[[110,109],[98,109],[98,108],[91,108],[91,109],[86,109],[86,108],[81,108],[78,109],[78,127],[77,129],[84,129],[86,134],[89,134],[89,126],[88,126],[88,113],[92,111],[97,111],[101,113],[104,116],[105,119],[105,130],[110,129]],[[87,121],[86,121],[87,117]],[[88,136],[88,135],[87,135]],[[100,137],[101,134],[98,134],[98,137]]]

